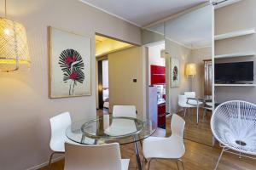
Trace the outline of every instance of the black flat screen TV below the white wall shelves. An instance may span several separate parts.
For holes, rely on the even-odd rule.
[[[215,64],[215,82],[253,81],[253,61]]]

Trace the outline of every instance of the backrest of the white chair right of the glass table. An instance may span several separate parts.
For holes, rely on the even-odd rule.
[[[171,131],[172,134],[176,134],[183,138],[183,132],[185,127],[185,121],[181,116],[177,116],[177,114],[172,115],[172,122],[171,122]]]

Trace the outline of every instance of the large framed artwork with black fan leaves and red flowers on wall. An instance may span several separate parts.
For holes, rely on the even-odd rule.
[[[48,27],[49,98],[91,95],[90,37]]]

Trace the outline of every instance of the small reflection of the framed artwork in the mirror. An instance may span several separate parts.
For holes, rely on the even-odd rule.
[[[171,88],[179,87],[179,83],[180,83],[179,59],[171,58]]]

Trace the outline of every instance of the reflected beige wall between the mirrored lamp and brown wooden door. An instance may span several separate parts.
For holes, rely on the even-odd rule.
[[[204,59],[212,59],[212,48],[197,48],[191,50],[191,62],[196,65],[196,75],[191,78],[191,90],[198,97],[204,95],[205,67]]]

